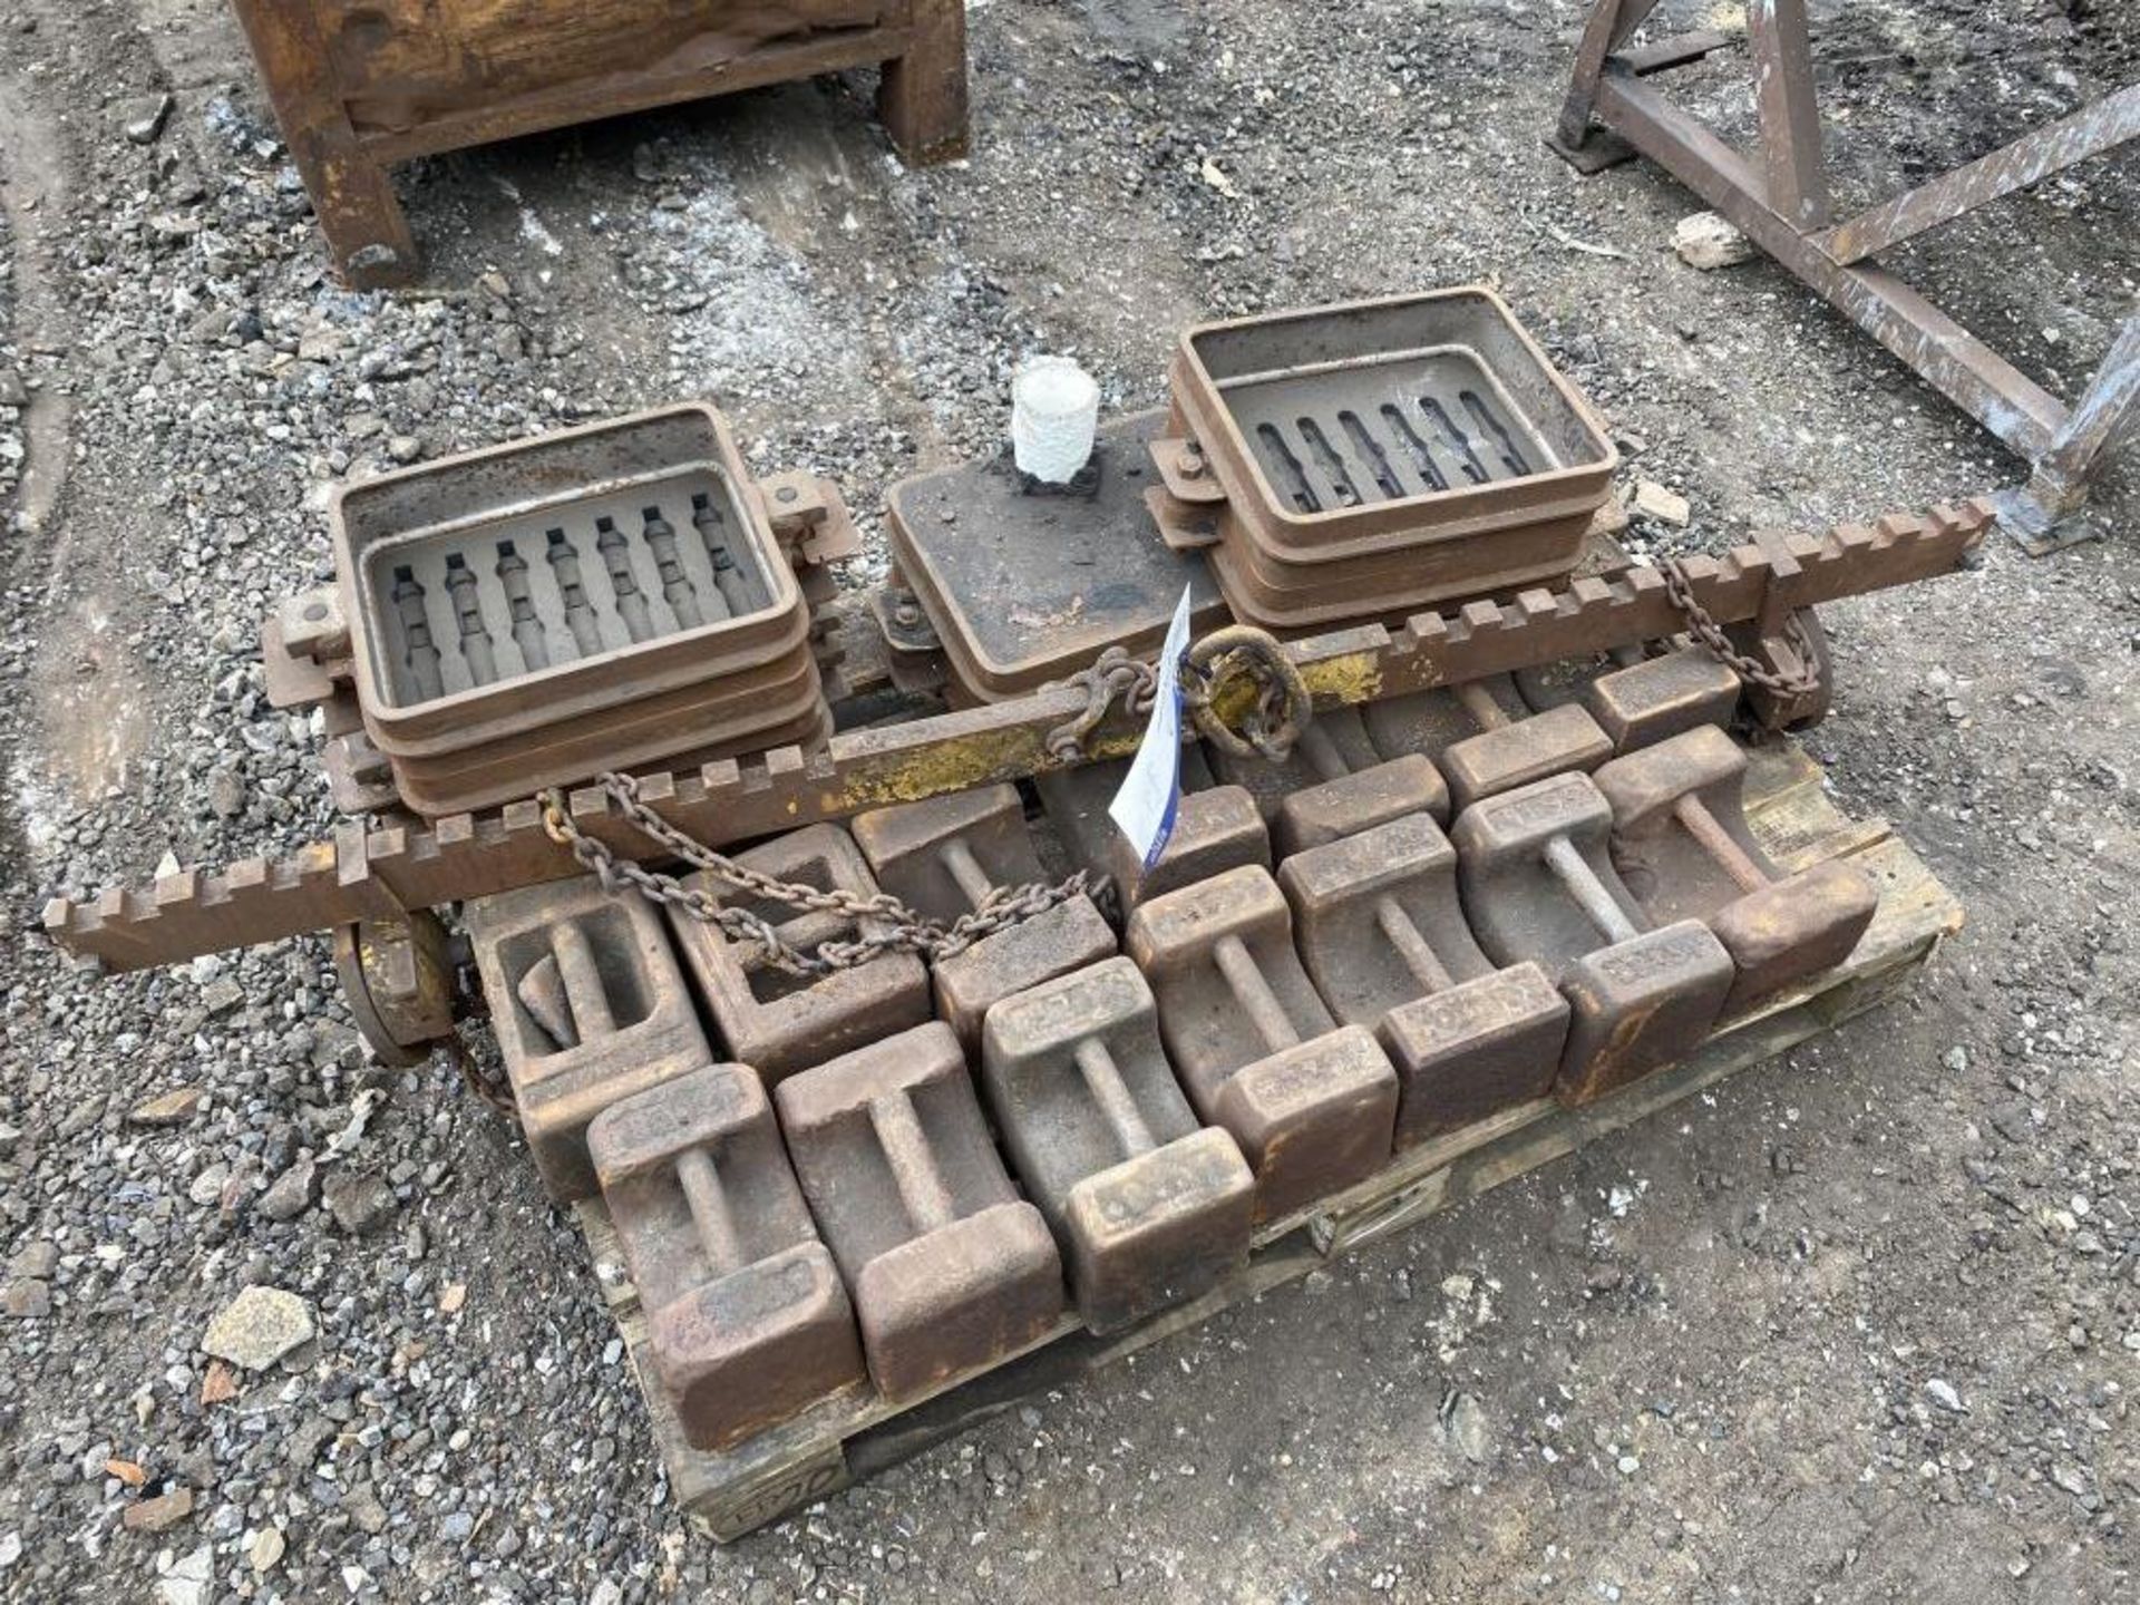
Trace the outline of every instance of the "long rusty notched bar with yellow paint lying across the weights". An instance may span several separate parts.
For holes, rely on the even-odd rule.
[[[1723,625],[1911,584],[1962,567],[1992,522],[1986,503],[1890,514],[1825,535],[1778,535],[1725,556],[1686,559],[1695,599]],[[1776,610],[1783,610],[1780,614]],[[1511,601],[1421,612],[1402,625],[1363,625],[1286,646],[1318,706],[1361,704],[1504,674],[1564,657],[1637,646],[1684,629],[1665,576],[1624,567]],[[642,800],[708,845],[728,845],[869,807],[916,802],[1064,766],[1049,734],[1085,710],[1083,689],[961,708],[931,719],[850,730],[805,753],[721,760],[691,773],[646,775]],[[1115,708],[1085,758],[1128,753],[1138,721]],[[569,798],[574,822],[621,856],[653,858],[599,790]],[[223,871],[182,869],[148,890],[111,888],[54,899],[45,931],[107,969],[180,963],[201,952],[276,942],[353,920],[392,920],[514,886],[580,873],[550,839],[535,800],[458,813],[428,826],[349,824],[289,858],[248,858]]]

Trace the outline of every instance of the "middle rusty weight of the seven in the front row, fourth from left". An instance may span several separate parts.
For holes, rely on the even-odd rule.
[[[1267,869],[1224,875],[1130,916],[1128,950],[1196,1113],[1256,1173],[1256,1218],[1290,1213],[1389,1158],[1397,1076],[1374,1036],[1340,1027],[1293,950]]]

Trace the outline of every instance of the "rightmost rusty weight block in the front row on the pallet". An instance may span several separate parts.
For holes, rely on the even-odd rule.
[[[1658,922],[1701,920],[1738,967],[1740,1012],[1849,959],[1879,895],[1825,862],[1783,875],[1746,828],[1746,753],[1706,725],[1596,773],[1614,815],[1614,867]]]

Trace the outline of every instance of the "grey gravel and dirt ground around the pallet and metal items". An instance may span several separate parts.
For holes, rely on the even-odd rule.
[[[2108,0],[1813,11],[1845,201],[2140,58]],[[0,1596],[2131,1599],[2129,467],[2101,541],[1830,610],[1813,747],[1971,914],[1905,1002],[725,1549],[520,1143],[366,1057],[321,942],[96,984],[36,935],[330,824],[255,627],[334,484],[674,396],[875,533],[1023,353],[1145,407],[1188,321],[1485,280],[1688,496],[1652,546],[2012,484],[1778,270],[1680,263],[1661,173],[1543,150],[1579,21],[976,0],[965,163],[905,171],[867,73],[524,139],[404,169],[428,278],[353,295],[225,6],[0,0]],[[1676,94],[1744,122],[1736,71]],[[2072,394],[2136,199],[2093,163],[1905,265]],[[214,1372],[250,1284],[312,1335]]]

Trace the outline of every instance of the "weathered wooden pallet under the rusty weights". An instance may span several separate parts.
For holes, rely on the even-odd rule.
[[[1308,1275],[1333,1254],[1346,1254],[1515,1181],[1738,1070],[1832,1031],[1900,991],[1939,942],[1960,929],[1960,903],[1917,854],[1885,822],[1845,817],[1823,792],[1821,768],[1795,745],[1778,743],[1753,753],[1746,817],[1783,869],[1849,858],[1872,875],[1881,892],[1879,914],[1849,963],[1733,1021],[1678,1066],[1586,1109],[1537,1100],[1395,1156],[1357,1188],[1269,1222],[1258,1230],[1248,1265],[1201,1299],[1109,1338],[1094,1338],[1070,1316],[1031,1346],[991,1367],[950,1378],[935,1393],[905,1406],[888,1406],[867,1387],[856,1387],[725,1453],[691,1449],[653,1380],[646,1323],[640,1318],[608,1209],[599,1198],[578,1205],[595,1278],[631,1352],[678,1504],[717,1539],[736,1539],[775,1522],[1019,1400],[1111,1365],[1233,1303]]]

